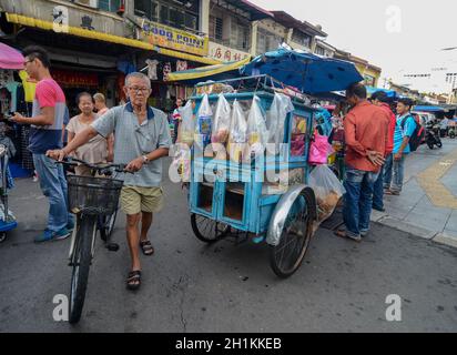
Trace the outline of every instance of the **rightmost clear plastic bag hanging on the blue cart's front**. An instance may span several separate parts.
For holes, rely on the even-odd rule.
[[[275,93],[272,106],[266,113],[266,129],[268,131],[267,143],[275,146],[274,154],[280,153],[280,144],[284,142],[284,124],[287,113],[294,111],[291,98],[282,93]]]

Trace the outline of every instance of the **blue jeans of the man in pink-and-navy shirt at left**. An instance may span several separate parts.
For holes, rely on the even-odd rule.
[[[41,191],[50,204],[47,229],[51,232],[59,232],[73,219],[68,212],[68,189],[63,166],[55,164],[54,160],[44,154],[33,154],[33,163]]]

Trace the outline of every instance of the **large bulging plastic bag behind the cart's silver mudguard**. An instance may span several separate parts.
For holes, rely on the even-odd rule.
[[[327,165],[317,165],[309,174],[309,186],[317,201],[317,222],[322,223],[332,216],[345,189]]]

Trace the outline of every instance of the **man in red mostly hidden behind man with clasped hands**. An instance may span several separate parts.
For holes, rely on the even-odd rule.
[[[386,113],[389,115],[389,124],[388,124],[388,139],[387,139],[387,146],[386,146],[386,163],[380,168],[379,176],[375,182],[374,193],[373,193],[373,210],[385,212],[384,209],[384,172],[385,170],[392,169],[393,162],[393,154],[394,151],[394,133],[395,133],[395,125],[397,124],[397,120],[395,113],[392,112],[390,106],[388,105],[388,98],[384,91],[376,91],[372,95],[372,103],[382,108]]]

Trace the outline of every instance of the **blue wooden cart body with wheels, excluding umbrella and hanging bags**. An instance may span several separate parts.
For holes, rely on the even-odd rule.
[[[244,81],[257,82],[262,79],[268,78],[243,78]],[[202,87],[204,84],[197,85],[197,89]],[[257,83],[256,89],[224,94],[231,104],[237,100],[246,106],[254,95],[267,112],[275,93],[266,85]],[[207,98],[211,104],[215,104],[219,94]],[[202,94],[191,99],[196,103],[196,111],[202,99]],[[273,156],[262,154],[250,163],[241,163],[231,159],[205,158],[204,154],[196,154],[194,149],[191,165],[190,211],[196,237],[214,243],[235,234],[245,240],[252,239],[254,243],[266,242],[271,246],[271,266],[280,277],[288,277],[299,267],[317,216],[316,199],[307,185],[311,170],[307,153],[316,110],[298,99],[292,102],[294,110],[286,114],[284,121],[283,148],[286,152]],[[298,153],[293,152],[291,144],[293,125],[302,128],[299,134],[304,146]],[[281,181],[276,182],[277,178],[268,179],[277,176],[276,172],[288,173],[290,178],[293,176],[293,184],[287,181],[287,186],[284,186]]]

